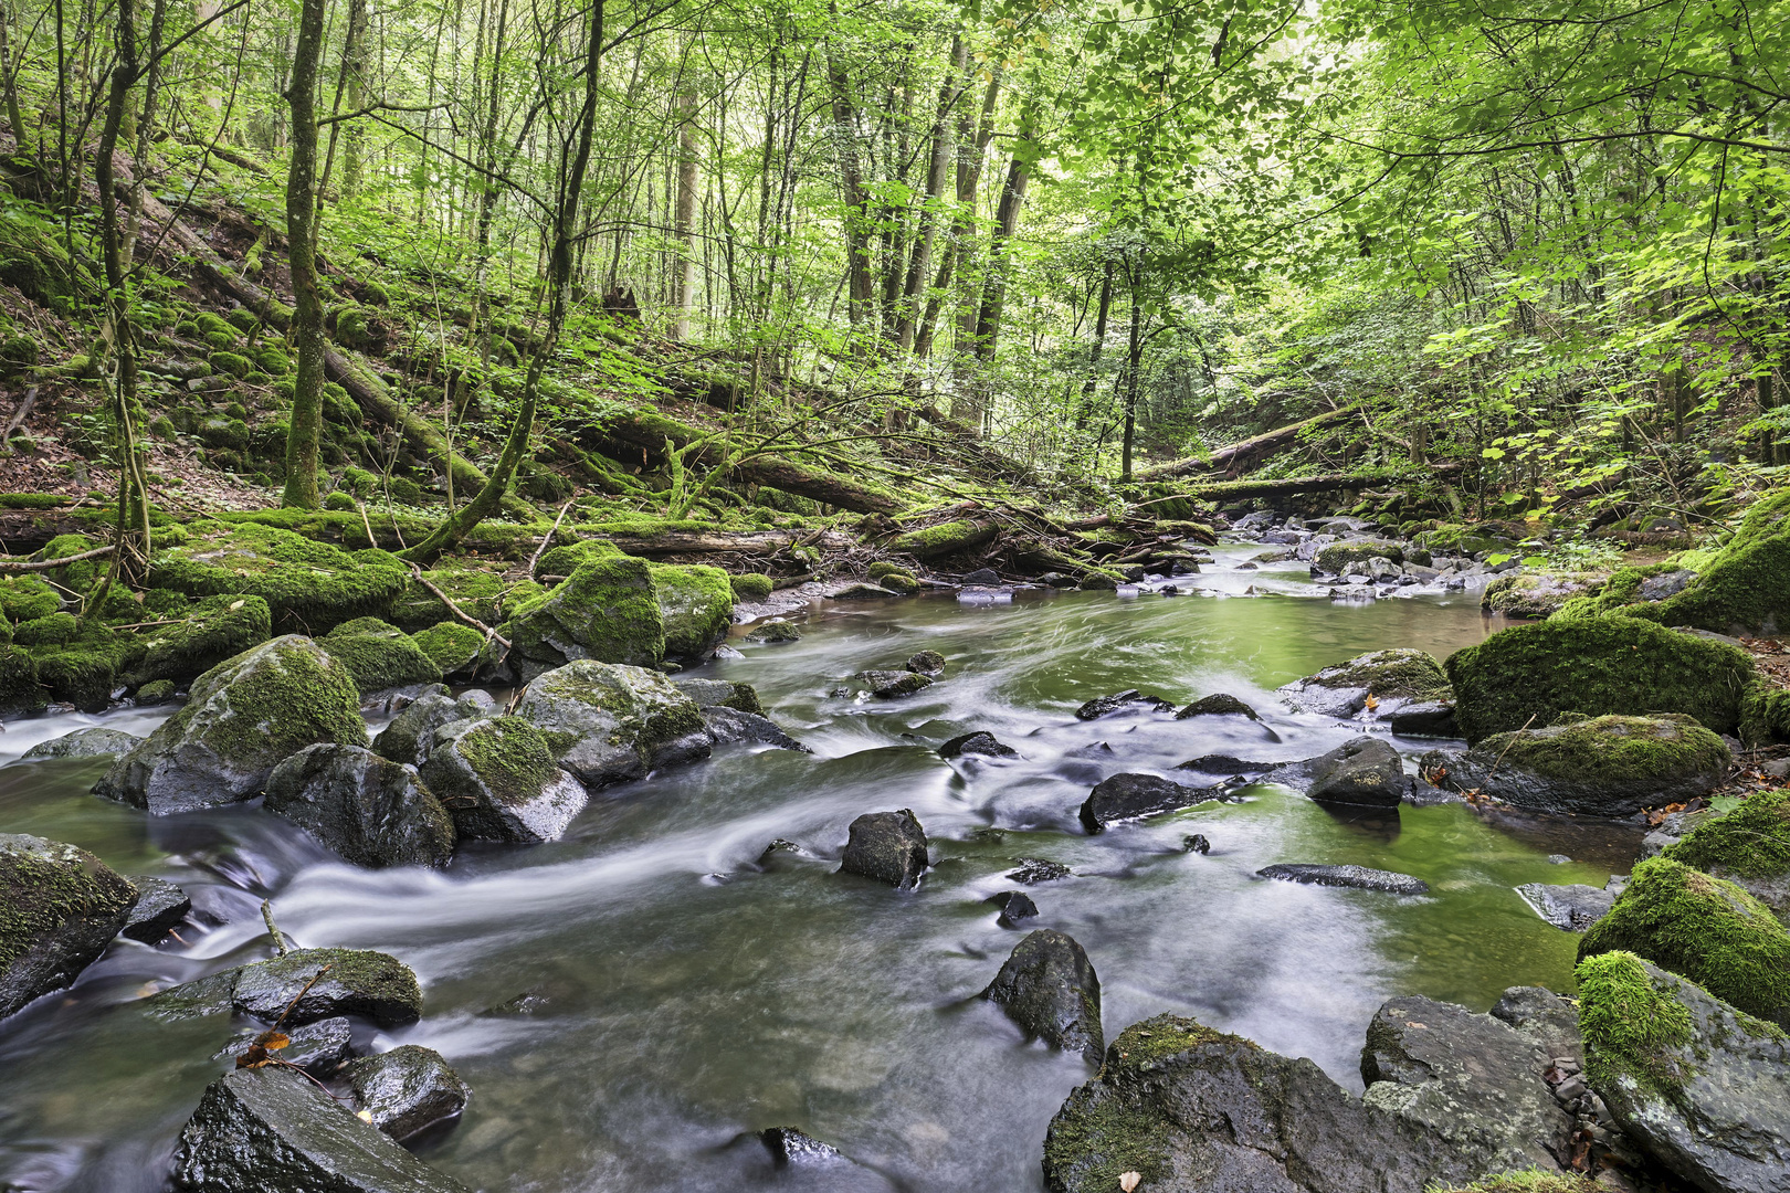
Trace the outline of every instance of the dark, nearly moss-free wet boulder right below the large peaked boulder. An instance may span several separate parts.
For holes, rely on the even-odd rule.
[[[453,860],[453,817],[417,769],[363,746],[306,746],[274,767],[261,807],[356,866]]]

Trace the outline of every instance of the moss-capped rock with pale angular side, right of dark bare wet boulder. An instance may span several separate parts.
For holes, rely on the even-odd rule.
[[[462,839],[558,841],[589,801],[584,783],[558,767],[546,737],[523,717],[442,726],[421,774]]]

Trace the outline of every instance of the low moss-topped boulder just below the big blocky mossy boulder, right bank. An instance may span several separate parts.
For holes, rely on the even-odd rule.
[[[1446,764],[1441,783],[1520,808],[1620,817],[1704,796],[1731,762],[1727,742],[1686,715],[1568,715],[1482,739]]]

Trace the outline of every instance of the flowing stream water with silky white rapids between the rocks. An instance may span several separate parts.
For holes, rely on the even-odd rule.
[[[419,973],[422,1021],[365,1043],[451,1061],[473,1104],[417,1150],[489,1191],[1040,1189],[1045,1125],[1092,1071],[974,998],[1020,939],[984,901],[1015,889],[1015,859],[1072,867],[1029,887],[1042,914],[1027,926],[1087,948],[1108,1036],[1192,1014],[1359,1089],[1362,1032],[1389,996],[1484,1011],[1507,986],[1570,989],[1577,937],[1513,887],[1602,885],[1634,857],[1627,828],[1491,821],[1461,805],[1339,817],[1251,787],[1242,803],[1083,833],[1076,808],[1108,774],[1203,753],[1303,758],[1359,732],[1287,714],[1269,694],[1280,683],[1389,646],[1443,656],[1498,628],[1477,594],[1334,605],[1301,571],[1232,571],[1249,553],[1219,547],[1194,578],[1201,596],[816,610],[800,642],[736,642],[743,658],[703,671],[757,685],[813,757],[730,746],[600,792],[564,841],[462,850],[442,873],[344,866],[256,807],[145,817],[86,794],[102,762],[5,766],[0,832],[172,878],[202,925],[183,930],[186,944],[122,941],[75,989],[0,1025],[0,1189],[163,1186],[181,1123],[229,1064],[211,1057],[231,1027],[163,1023],[136,1000],[268,955],[267,896],[288,939],[385,950]],[[832,694],[918,649],[950,660],[934,687],[888,703]],[[1264,723],[1074,719],[1081,701],[1128,687],[1174,701],[1232,692]],[[158,719],[14,723],[0,751],[13,760],[95,723],[147,733]],[[936,746],[967,730],[1024,758],[940,760]],[[834,873],[847,825],[888,808],[913,808],[934,841],[938,866],[915,893]],[[1194,832],[1210,855],[1183,850]],[[806,853],[761,869],[777,837]],[[1271,862],[1357,862],[1432,893],[1253,878]],[[779,1173],[745,1134],[773,1125],[859,1166]]]

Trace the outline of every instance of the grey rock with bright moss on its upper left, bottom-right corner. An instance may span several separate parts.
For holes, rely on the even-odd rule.
[[[1586,1077],[1624,1132],[1711,1193],[1790,1189],[1790,1039],[1627,952],[1579,964]]]

